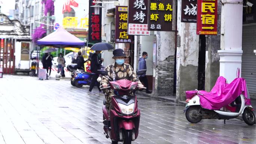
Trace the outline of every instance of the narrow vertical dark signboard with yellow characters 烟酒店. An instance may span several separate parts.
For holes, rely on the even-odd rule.
[[[116,43],[131,43],[132,36],[128,35],[128,7],[116,6]]]

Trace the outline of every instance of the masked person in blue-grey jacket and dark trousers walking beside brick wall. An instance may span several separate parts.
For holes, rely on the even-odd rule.
[[[139,70],[147,70],[147,64],[146,64],[146,60],[147,59],[147,52],[143,52],[142,53],[142,57],[139,59],[139,64],[138,64],[138,71]],[[140,77],[140,82],[144,83],[144,86],[146,86],[146,93],[147,94],[151,94],[151,92],[149,91],[149,84],[147,82],[147,76],[146,73],[142,74]]]

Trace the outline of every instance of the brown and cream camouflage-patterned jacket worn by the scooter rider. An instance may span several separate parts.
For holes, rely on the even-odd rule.
[[[112,72],[112,67],[114,67],[114,71],[115,71],[115,75],[116,75],[116,80],[122,80],[122,79],[127,79],[127,80],[131,80],[134,81],[135,79],[137,79],[137,74],[134,73],[134,70],[132,69],[131,65],[129,64],[124,64],[122,66],[121,69],[117,68],[115,63],[108,65],[105,70],[108,72],[108,76],[110,79],[113,79],[113,72]],[[138,82],[138,84],[141,84],[140,80],[136,80],[136,82]],[[101,85],[103,84],[108,84],[109,83],[109,79],[107,79],[105,76],[102,77],[101,80]],[[113,90],[104,90],[103,91],[105,95],[110,95],[110,94],[114,94]]]

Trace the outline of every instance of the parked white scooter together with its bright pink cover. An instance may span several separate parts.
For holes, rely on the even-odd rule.
[[[255,114],[243,78],[236,78],[230,84],[219,77],[211,92],[186,91],[186,119],[198,123],[202,119],[234,119],[242,116],[247,125],[255,124]],[[228,102],[227,102],[228,101]]]

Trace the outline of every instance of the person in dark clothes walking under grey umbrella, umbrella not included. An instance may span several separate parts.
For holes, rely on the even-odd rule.
[[[98,70],[100,70],[102,62],[103,58],[101,58],[101,51],[96,51],[91,57],[91,71],[94,73],[94,75],[92,76],[89,92],[92,91],[95,83],[101,92],[100,83],[97,81],[97,79],[99,77]]]

